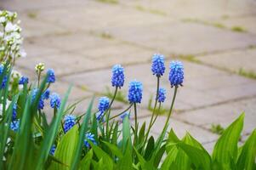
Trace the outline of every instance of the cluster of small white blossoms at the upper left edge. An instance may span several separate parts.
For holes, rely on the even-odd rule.
[[[6,10],[0,11],[0,59],[15,59],[26,57],[26,52],[21,47],[20,20],[16,21],[17,14]]]

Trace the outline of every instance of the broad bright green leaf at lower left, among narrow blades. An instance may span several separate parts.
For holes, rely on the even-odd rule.
[[[74,154],[77,150],[78,139],[78,127],[75,125],[67,133],[65,133],[54,153],[54,157],[56,157],[68,167],[63,166],[60,163],[53,162],[52,169],[70,169]]]

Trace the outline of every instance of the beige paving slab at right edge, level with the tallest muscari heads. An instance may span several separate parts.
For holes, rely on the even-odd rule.
[[[256,73],[256,49],[248,48],[245,50],[234,50],[222,54],[209,54],[204,56],[196,57],[208,65],[215,67],[224,68],[230,71],[239,72],[240,69],[243,71],[252,71]]]

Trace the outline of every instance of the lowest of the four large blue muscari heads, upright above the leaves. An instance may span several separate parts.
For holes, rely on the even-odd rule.
[[[142,83],[136,80],[129,83],[128,100],[130,103],[140,103],[142,99]]]

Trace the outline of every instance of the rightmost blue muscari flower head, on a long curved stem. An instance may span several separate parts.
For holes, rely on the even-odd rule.
[[[172,61],[170,63],[169,81],[172,88],[182,86],[184,79],[184,67],[180,61]]]

